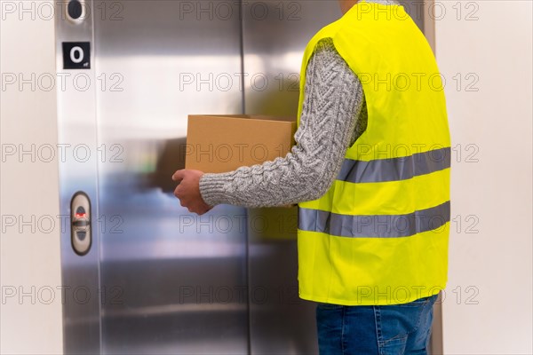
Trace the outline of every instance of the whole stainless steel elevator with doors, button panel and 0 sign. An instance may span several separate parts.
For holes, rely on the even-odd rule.
[[[415,3],[402,2],[427,32]],[[188,114],[296,116],[304,48],[341,16],[337,1],[55,6],[57,71],[73,83],[58,88],[73,152],[60,161],[65,353],[317,353],[314,304],[298,298],[297,209],[198,217],[171,175]]]

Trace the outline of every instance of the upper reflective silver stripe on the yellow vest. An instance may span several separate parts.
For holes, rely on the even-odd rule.
[[[376,159],[370,162],[345,159],[337,179],[351,183],[378,183],[406,180],[449,168],[449,147],[412,154],[400,158]]]

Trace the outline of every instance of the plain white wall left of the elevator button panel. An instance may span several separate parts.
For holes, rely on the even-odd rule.
[[[20,12],[22,3],[29,12]],[[44,91],[48,84],[39,84],[37,80],[39,75],[55,73],[54,23],[52,19],[44,20],[45,12],[38,12],[37,5],[41,3],[0,2],[0,72],[4,85],[0,91],[2,354],[63,352],[61,297],[57,288],[60,286],[58,163],[55,159],[45,162],[48,157],[43,149],[38,153],[45,144],[53,147],[57,144],[56,94],[54,90]],[[6,7],[11,5],[17,8],[16,12],[11,13],[11,8]],[[22,78],[31,82],[32,73],[36,73],[34,89],[30,83],[21,90],[18,83],[5,84],[12,74],[17,81],[23,75]],[[20,148],[31,151],[35,145],[36,153],[6,155],[13,145],[18,152]],[[54,220],[55,226],[50,229]],[[12,292],[16,294],[10,296]],[[20,298],[20,292],[27,296]]]

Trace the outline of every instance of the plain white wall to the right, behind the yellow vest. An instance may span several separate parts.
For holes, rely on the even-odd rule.
[[[450,235],[443,303],[445,354],[533,353],[531,4],[438,2],[446,14],[435,13],[452,141],[461,146],[452,160],[456,232]],[[478,91],[466,91],[475,78],[472,89]],[[478,162],[465,162],[469,154]],[[476,221],[479,233],[466,233]]]

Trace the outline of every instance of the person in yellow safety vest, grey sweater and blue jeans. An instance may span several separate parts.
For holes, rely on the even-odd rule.
[[[438,68],[403,7],[340,0],[307,44],[290,154],[223,174],[179,170],[175,194],[298,203],[299,296],[322,354],[425,354],[447,281],[449,128]]]

